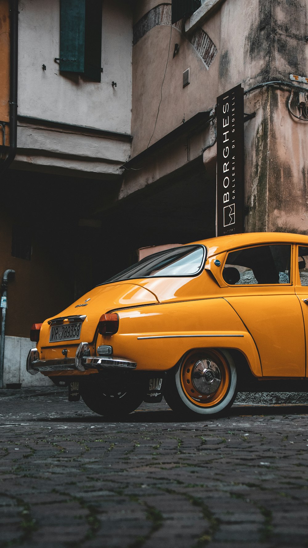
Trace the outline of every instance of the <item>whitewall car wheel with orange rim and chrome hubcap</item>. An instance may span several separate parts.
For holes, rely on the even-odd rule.
[[[182,414],[224,412],[236,397],[236,368],[230,352],[191,351],[168,373],[164,396],[171,409]]]

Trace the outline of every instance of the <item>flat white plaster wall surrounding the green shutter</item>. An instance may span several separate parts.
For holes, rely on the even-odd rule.
[[[60,0],[20,0],[19,11],[19,114],[130,133],[130,5],[103,2],[100,83],[60,73],[54,61],[60,47]]]

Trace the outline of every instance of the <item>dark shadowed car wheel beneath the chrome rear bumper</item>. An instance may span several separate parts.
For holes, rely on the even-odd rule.
[[[128,415],[143,401],[136,386],[114,379],[80,383],[80,394],[91,411],[110,418]]]

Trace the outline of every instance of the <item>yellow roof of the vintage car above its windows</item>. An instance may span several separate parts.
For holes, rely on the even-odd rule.
[[[230,249],[263,243],[299,243],[308,247],[308,236],[290,232],[245,232],[231,234],[230,236],[217,236],[216,238],[208,238],[193,243],[201,243],[206,246],[208,249],[207,256],[211,257]]]

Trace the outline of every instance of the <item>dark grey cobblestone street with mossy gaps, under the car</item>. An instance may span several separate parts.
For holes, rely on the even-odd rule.
[[[65,390],[3,390],[0,546],[308,546],[308,406],[111,423]]]

